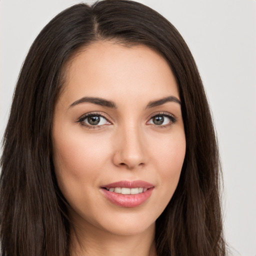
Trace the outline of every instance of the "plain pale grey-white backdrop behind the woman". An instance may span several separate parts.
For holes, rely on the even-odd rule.
[[[77,0],[0,0],[0,138],[22,61],[41,28]],[[87,1],[92,2],[92,1]],[[140,0],[182,34],[198,65],[222,158],[233,255],[256,255],[256,1]]]

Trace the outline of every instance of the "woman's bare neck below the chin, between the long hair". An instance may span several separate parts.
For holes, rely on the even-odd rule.
[[[134,234],[115,234],[90,224],[86,229],[75,226],[71,228],[70,255],[156,256],[154,233],[154,224]]]

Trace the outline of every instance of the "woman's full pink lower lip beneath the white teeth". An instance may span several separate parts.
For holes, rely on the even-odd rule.
[[[110,192],[104,188],[100,189],[104,196],[113,204],[121,207],[136,207],[145,202],[151,195],[153,187],[148,188],[145,192],[138,194],[121,194]]]

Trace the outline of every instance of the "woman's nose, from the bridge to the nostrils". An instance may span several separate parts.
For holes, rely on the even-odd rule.
[[[115,135],[113,163],[119,167],[134,169],[147,162],[145,139],[138,127],[121,128]]]

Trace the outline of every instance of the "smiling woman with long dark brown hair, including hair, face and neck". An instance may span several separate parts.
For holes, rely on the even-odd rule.
[[[2,255],[225,255],[203,86],[149,7],[103,0],[54,17],[3,143]]]

